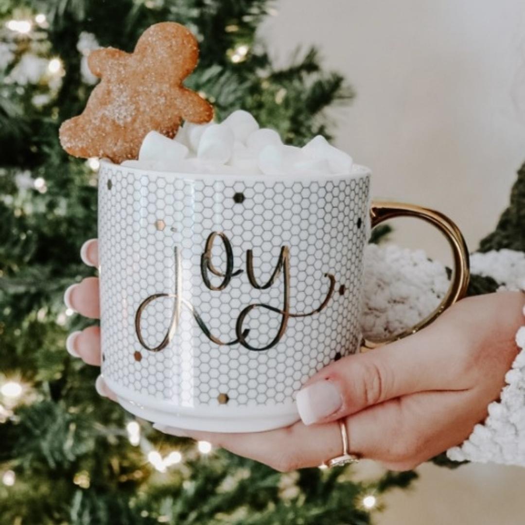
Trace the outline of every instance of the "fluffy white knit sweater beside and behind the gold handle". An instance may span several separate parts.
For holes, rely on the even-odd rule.
[[[473,274],[489,276],[500,290],[525,285],[525,254],[499,250],[474,254]],[[403,331],[427,316],[448,288],[445,267],[422,250],[393,245],[367,247],[361,326],[365,338],[384,338]],[[525,310],[523,312],[525,316]],[[479,461],[525,466],[525,319],[516,334],[520,351],[505,376],[499,401],[488,406],[488,416],[460,445],[449,448],[454,461]]]

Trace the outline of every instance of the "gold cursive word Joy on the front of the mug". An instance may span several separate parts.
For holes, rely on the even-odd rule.
[[[212,264],[212,248],[217,238],[222,240],[223,248],[225,250],[226,269],[224,270],[224,272],[217,269]],[[275,269],[272,272],[270,278],[268,279],[268,282],[264,284],[259,283],[255,277],[253,251],[246,250],[246,276],[248,278],[250,285],[253,286],[253,288],[257,290],[266,290],[277,282],[281,274],[283,275],[282,308],[276,308],[274,306],[270,306],[269,304],[262,304],[262,303],[248,304],[248,306],[246,306],[243,310],[240,311],[239,316],[237,317],[237,320],[235,322],[236,339],[233,341],[225,342],[225,341],[221,341],[219,338],[215,337],[215,335],[212,334],[211,330],[206,326],[201,316],[199,316],[198,312],[195,310],[192,304],[181,296],[180,291],[182,289],[182,267],[181,267],[181,258],[180,258],[179,250],[177,249],[177,247],[174,248],[174,259],[175,259],[175,293],[154,293],[153,295],[147,297],[146,299],[144,299],[144,301],[141,302],[139,308],[137,309],[137,312],[135,313],[135,331],[137,332],[137,337],[139,339],[139,342],[146,350],[150,350],[152,352],[159,352],[160,350],[166,348],[166,346],[173,339],[177,331],[177,327],[178,327],[180,316],[181,316],[181,311],[183,308],[186,308],[188,311],[192,313],[199,328],[201,328],[201,330],[206,335],[206,337],[210,341],[218,345],[233,345],[233,344],[240,343],[248,350],[255,350],[255,351],[268,350],[269,348],[272,348],[272,346],[275,346],[281,340],[282,336],[284,335],[286,331],[286,328],[288,326],[288,321],[290,318],[309,317],[309,316],[313,316],[313,314],[315,313],[319,313],[321,310],[323,310],[327,306],[328,302],[330,301],[330,298],[333,295],[333,291],[335,288],[335,277],[332,274],[324,274],[324,277],[328,277],[330,281],[330,289],[326,297],[324,298],[324,300],[321,302],[321,304],[315,310],[312,310],[311,312],[292,313],[290,312],[290,251],[289,251],[289,248],[287,246],[281,247],[279,258],[277,260]],[[212,284],[210,280],[210,274],[213,274],[216,277],[221,277],[223,279],[220,285],[214,286]],[[204,285],[209,290],[221,291],[221,290],[224,290],[229,285],[230,281],[234,277],[239,277],[241,274],[244,274],[244,270],[239,269],[239,270],[234,271],[234,257],[233,257],[232,244],[230,243],[228,237],[226,237],[226,235],[222,232],[212,232],[206,239],[204,252],[201,255],[201,276],[202,276]],[[146,342],[144,341],[142,337],[142,331],[141,331],[142,315],[144,314],[144,311],[146,307],[149,306],[149,304],[163,297],[169,297],[173,299],[173,313],[172,313],[170,325],[166,331],[166,334],[164,335],[163,340],[160,342],[160,344],[157,346],[149,346],[148,344],[146,344]],[[279,325],[279,328],[277,330],[277,333],[274,339],[272,339],[266,346],[263,346],[262,348],[255,348],[255,346],[248,343],[246,338],[250,330],[243,328],[248,314],[251,311],[256,310],[256,309],[270,310],[272,312],[278,313],[281,318],[280,325]]]

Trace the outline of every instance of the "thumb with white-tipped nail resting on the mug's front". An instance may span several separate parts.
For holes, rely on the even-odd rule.
[[[296,398],[303,423],[328,423],[405,394],[457,390],[457,346],[433,328],[349,355],[311,377]]]

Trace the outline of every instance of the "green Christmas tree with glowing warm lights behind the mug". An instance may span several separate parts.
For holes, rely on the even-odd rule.
[[[356,481],[352,466],[279,474],[163,435],[100,398],[98,370],[65,351],[67,334],[88,324],[62,295],[93,275],[78,253],[96,236],[98,160],[65,154],[58,127],[80,113],[97,81],[87,55],[98,46],[129,51],[151,24],[180,22],[201,46],[186,83],[218,119],[242,108],[289,143],[329,138],[324,110],[348,102],[352,90],[324,71],[316,49],[276,68],[256,37],[272,14],[268,0],[0,4],[1,524],[371,523],[381,495],[417,477]],[[476,283],[473,293],[494,284]]]

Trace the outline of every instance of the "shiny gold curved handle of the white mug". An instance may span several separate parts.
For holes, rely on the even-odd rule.
[[[400,334],[394,335],[394,337],[379,341],[368,341],[363,340],[361,345],[361,352],[367,352],[377,346],[381,346],[391,341],[406,337],[406,335],[413,334],[418,330],[426,327],[428,324],[433,322],[439,314],[443,313],[449,306],[454,304],[457,300],[465,296],[469,281],[469,257],[468,248],[465,243],[465,239],[459,228],[450,220],[446,215],[436,212],[434,209],[423,208],[422,206],[416,206],[414,204],[403,204],[388,201],[372,201],[370,207],[370,218],[371,227],[374,228],[378,224],[381,224],[385,220],[392,219],[394,217],[416,217],[419,219],[426,220],[426,222],[435,226],[447,239],[452,254],[454,257],[454,268],[452,276],[450,278],[450,287],[444,299],[440,302],[439,306],[430,313],[429,316],[425,317],[422,321],[419,321],[413,328],[407,329]]]

